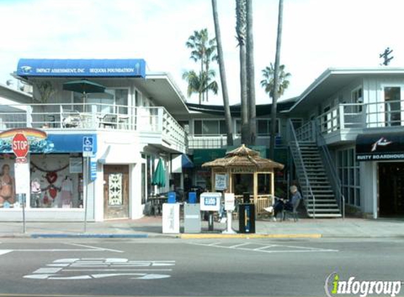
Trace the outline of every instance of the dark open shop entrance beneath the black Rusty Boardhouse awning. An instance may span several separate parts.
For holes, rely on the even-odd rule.
[[[404,163],[379,163],[379,215],[404,215]]]

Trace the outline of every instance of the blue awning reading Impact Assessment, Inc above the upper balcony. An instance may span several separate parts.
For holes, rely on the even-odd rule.
[[[144,59],[25,59],[18,61],[20,77],[143,77]]]

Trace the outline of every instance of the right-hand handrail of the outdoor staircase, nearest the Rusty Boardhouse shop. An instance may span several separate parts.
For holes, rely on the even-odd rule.
[[[318,119],[314,120],[314,124],[315,124],[314,131],[316,133],[316,138],[317,138],[317,146],[322,149],[322,152],[323,152],[322,156],[324,157],[323,160],[325,161],[326,166],[329,169],[328,171],[331,173],[331,178],[332,178],[333,182],[336,184],[336,186],[334,187],[335,188],[334,191],[336,191],[337,195],[339,196],[338,201],[340,203],[342,217],[343,217],[343,219],[345,219],[345,197],[343,196],[343,193],[341,191],[341,180],[339,179],[338,173],[336,172],[336,168],[333,165],[333,160],[331,158],[329,148],[326,145],[326,141],[325,141],[322,133],[320,132],[319,120]]]

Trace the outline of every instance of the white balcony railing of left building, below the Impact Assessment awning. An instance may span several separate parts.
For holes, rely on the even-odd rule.
[[[114,129],[161,133],[173,148],[183,150],[185,130],[164,107],[132,107],[110,104],[46,103],[0,105],[0,130],[34,127],[58,129]]]

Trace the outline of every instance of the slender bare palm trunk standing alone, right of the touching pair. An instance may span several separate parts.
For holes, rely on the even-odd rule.
[[[276,104],[279,97],[279,60],[281,56],[282,39],[282,18],[283,18],[283,0],[279,0],[278,8],[278,33],[276,36],[276,54],[275,54],[275,73],[274,73],[274,98],[271,110],[271,143],[269,144],[269,158],[275,156],[275,136],[276,136]]]

